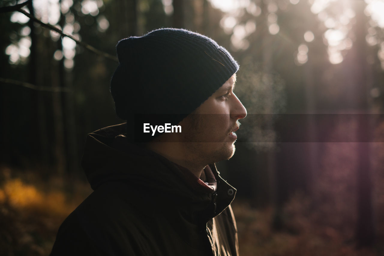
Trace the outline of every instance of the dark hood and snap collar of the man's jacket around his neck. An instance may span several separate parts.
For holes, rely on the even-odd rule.
[[[169,198],[169,203],[209,204],[212,201],[212,188],[187,169],[157,153],[129,143],[122,135],[125,131],[126,123],[122,123],[88,134],[82,166],[93,190],[104,183],[117,181],[132,186],[142,194],[151,195],[152,198]],[[217,180],[218,189],[225,193],[227,190],[233,192],[230,197],[218,202],[218,214],[232,202],[236,190],[219,176],[215,165],[210,165],[210,169]]]

